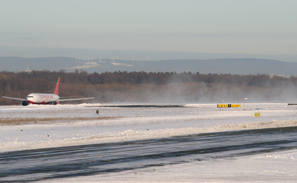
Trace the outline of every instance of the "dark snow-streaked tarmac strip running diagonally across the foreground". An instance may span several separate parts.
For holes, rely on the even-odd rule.
[[[297,127],[203,133],[0,154],[0,182],[109,174],[297,148]]]

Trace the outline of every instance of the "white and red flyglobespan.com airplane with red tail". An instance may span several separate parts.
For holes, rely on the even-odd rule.
[[[86,100],[86,99],[94,99],[92,98],[74,98],[74,99],[61,99],[61,98],[70,98],[70,97],[59,97],[59,85],[60,85],[60,78],[58,79],[57,86],[55,89],[54,94],[44,94],[44,93],[31,93],[27,96],[27,99],[22,98],[12,98],[12,97],[2,97],[2,98],[10,98],[14,100],[22,100],[21,104],[23,106],[26,106],[28,104],[52,104],[57,105],[60,104],[60,102],[65,101],[72,101],[72,100]],[[76,97],[76,96],[71,96]]]

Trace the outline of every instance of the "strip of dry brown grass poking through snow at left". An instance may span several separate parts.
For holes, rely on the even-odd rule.
[[[108,119],[120,119],[122,116],[92,116],[92,117],[0,117],[0,125],[29,125],[37,124],[40,122],[46,123],[66,123],[75,121],[97,121],[97,120],[108,120]]]

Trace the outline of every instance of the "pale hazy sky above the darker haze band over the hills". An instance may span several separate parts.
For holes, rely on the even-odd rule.
[[[295,0],[1,0],[0,47],[296,54],[296,8]]]

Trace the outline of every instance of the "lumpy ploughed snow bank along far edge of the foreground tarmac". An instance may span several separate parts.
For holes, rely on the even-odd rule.
[[[19,132],[19,135],[12,135],[1,139],[0,151],[11,151],[11,150],[26,150],[26,149],[38,149],[38,148],[49,148],[49,147],[61,147],[61,146],[72,146],[81,144],[93,144],[93,143],[107,143],[117,141],[129,141],[129,140],[141,140],[147,138],[161,138],[176,135],[187,135],[187,134],[199,134],[199,133],[213,133],[213,132],[225,132],[225,131],[237,131],[247,129],[263,129],[263,128],[276,128],[276,127],[288,127],[297,126],[297,120],[283,120],[283,121],[268,121],[268,122],[257,122],[257,123],[242,123],[242,124],[225,124],[214,127],[200,128],[200,127],[186,127],[186,128],[170,128],[170,129],[154,129],[154,130],[140,130],[133,131],[132,129],[125,130],[123,132],[104,132],[101,134],[85,136],[86,133],[82,131],[88,131],[80,126],[80,131],[76,134],[67,134],[69,132],[61,132],[59,127],[52,129],[51,132],[48,130],[41,130],[29,127],[17,127],[11,126],[9,131],[16,131],[16,128],[23,128],[23,132]],[[76,128],[72,126],[72,128]],[[62,130],[64,128],[61,128]],[[29,131],[26,133],[25,131]],[[6,130],[4,130],[6,131]],[[48,133],[44,133],[48,132]],[[70,131],[71,132],[71,131]],[[95,133],[95,132],[93,132]],[[25,135],[24,135],[25,134]],[[47,136],[50,134],[50,136]],[[66,136],[66,138],[64,138]],[[67,138],[67,136],[73,136]],[[76,137],[75,137],[76,136]],[[78,137],[77,137],[78,136]]]

